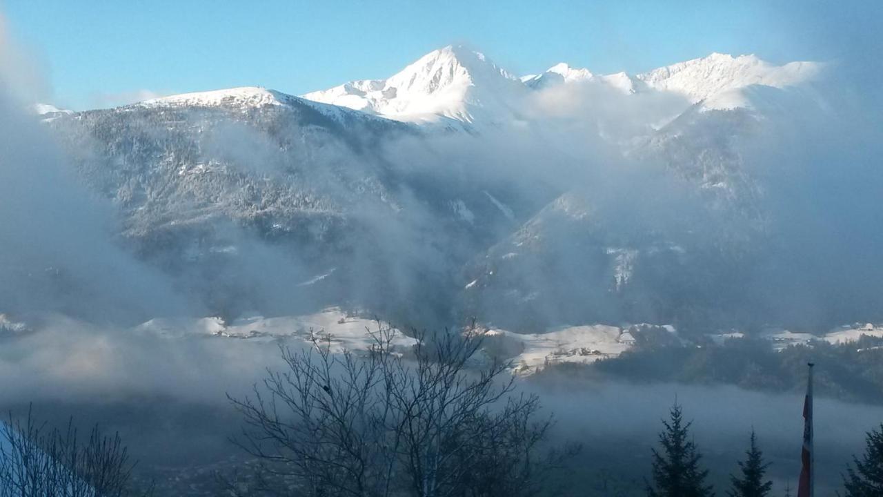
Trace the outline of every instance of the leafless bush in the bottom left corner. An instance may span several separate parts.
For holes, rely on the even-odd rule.
[[[66,429],[37,424],[31,412],[0,422],[0,497],[122,497],[131,495],[134,463],[118,433],[97,425],[85,441]]]

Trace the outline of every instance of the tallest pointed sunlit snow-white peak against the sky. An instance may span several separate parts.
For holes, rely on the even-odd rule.
[[[402,121],[506,120],[525,87],[484,54],[449,45],[386,80],[356,80],[304,97]]]

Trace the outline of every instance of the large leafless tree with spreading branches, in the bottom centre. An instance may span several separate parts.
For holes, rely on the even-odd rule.
[[[318,339],[282,348],[287,369],[231,399],[245,417],[235,441],[265,481],[316,497],[534,494],[550,423],[534,421],[535,395],[513,392],[507,363],[479,357],[483,333],[415,333],[408,350],[393,346],[396,333],[378,324],[358,355]]]

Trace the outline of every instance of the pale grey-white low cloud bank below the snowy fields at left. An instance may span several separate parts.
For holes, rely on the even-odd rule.
[[[36,331],[0,344],[0,377],[10,380],[0,386],[6,407],[137,395],[215,404],[279,362],[278,348],[266,340],[170,339],[63,316],[42,318]]]

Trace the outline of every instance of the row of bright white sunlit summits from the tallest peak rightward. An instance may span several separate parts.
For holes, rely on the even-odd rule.
[[[773,65],[753,55],[713,53],[637,75],[596,74],[562,62],[516,78],[480,52],[447,46],[386,80],[354,80],[304,98],[401,121],[509,124],[520,119],[519,108],[531,91],[562,84],[600,84],[626,95],[675,92],[706,109],[728,110],[753,106],[744,88],[793,87],[815,78],[821,68],[813,62]]]

